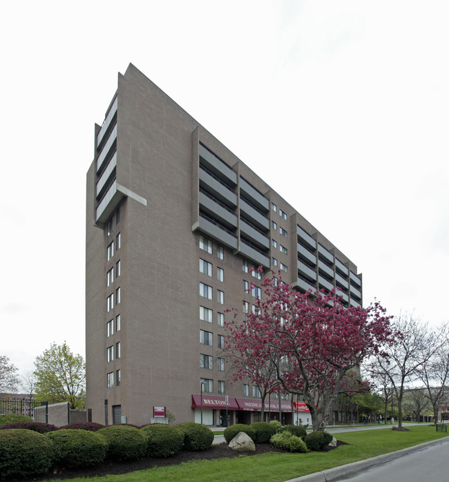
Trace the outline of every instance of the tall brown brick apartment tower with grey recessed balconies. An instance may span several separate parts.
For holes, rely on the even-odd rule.
[[[166,407],[177,423],[257,420],[257,387],[230,383],[222,347],[225,309],[252,308],[259,266],[362,303],[355,264],[130,64],[87,173],[90,419],[141,425]]]

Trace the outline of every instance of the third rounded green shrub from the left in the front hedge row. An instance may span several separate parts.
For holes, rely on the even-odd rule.
[[[136,427],[110,425],[97,433],[108,442],[108,459],[115,461],[142,459],[146,452],[146,436]]]

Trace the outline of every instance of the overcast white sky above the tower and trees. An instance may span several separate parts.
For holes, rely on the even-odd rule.
[[[2,2],[0,355],[84,355],[86,171],[129,62],[357,264],[365,305],[449,320],[448,24],[445,0]]]

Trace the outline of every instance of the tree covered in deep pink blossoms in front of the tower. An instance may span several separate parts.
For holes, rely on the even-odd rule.
[[[262,287],[257,309],[245,322],[238,322],[237,314],[227,322],[227,347],[254,366],[271,363],[276,369],[271,379],[302,395],[314,430],[324,430],[338,394],[367,390],[359,367],[392,343],[391,317],[378,302],[345,307],[333,292],[299,293],[276,278],[264,278]],[[240,376],[257,383],[242,366],[236,365]]]

